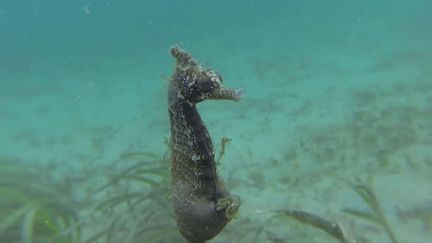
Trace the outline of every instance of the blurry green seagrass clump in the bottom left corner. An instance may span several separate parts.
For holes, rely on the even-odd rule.
[[[0,160],[0,242],[80,242],[70,195],[50,183],[43,171],[17,159]]]

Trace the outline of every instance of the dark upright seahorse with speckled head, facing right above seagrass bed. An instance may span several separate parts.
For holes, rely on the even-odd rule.
[[[233,219],[240,198],[232,195],[218,177],[212,140],[196,105],[210,99],[238,101],[243,90],[225,88],[219,74],[204,68],[180,47],[170,52],[176,59],[168,86],[174,213],[186,241],[203,243]]]

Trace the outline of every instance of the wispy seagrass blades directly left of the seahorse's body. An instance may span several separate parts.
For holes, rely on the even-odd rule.
[[[90,242],[175,242],[169,198],[169,162],[146,152],[123,153],[110,165],[106,183],[89,195],[97,227]]]

